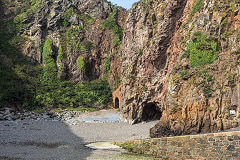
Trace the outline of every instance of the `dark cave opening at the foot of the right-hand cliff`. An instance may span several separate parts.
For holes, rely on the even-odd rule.
[[[142,121],[160,120],[161,117],[162,112],[155,103],[149,103],[143,107]]]

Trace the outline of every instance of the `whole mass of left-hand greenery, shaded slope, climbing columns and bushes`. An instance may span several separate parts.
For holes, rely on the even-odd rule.
[[[83,111],[92,110],[83,106],[97,107],[112,102],[111,88],[104,79],[86,84],[58,79],[56,62],[64,58],[65,46],[60,46],[56,58],[52,42],[47,39],[40,45],[44,66],[32,65],[18,48],[26,39],[7,33],[6,25],[0,23],[0,108],[8,105],[28,109],[80,107]]]

